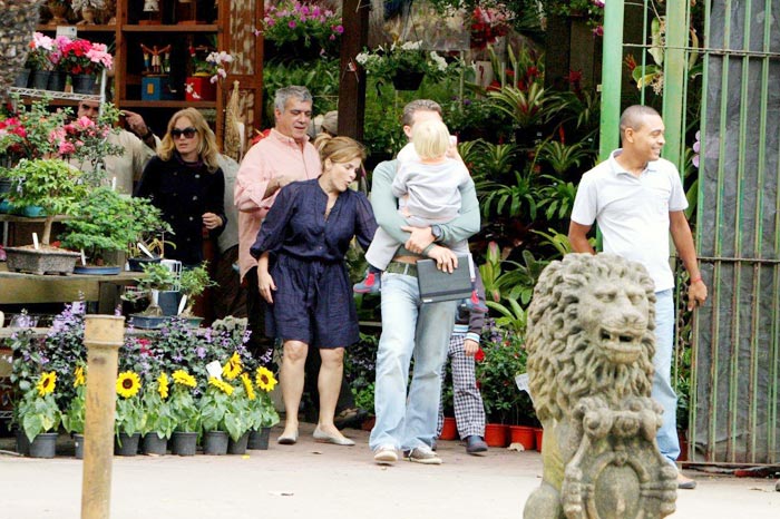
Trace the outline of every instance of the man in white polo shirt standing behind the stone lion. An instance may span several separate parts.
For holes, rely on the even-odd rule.
[[[677,168],[661,158],[664,124],[651,107],[631,106],[621,116],[621,141],[610,158],[585,175],[572,209],[568,237],[578,253],[595,254],[587,241],[594,222],[604,238],[604,252],[641,263],[655,283],[655,356],[652,396],[663,405],[663,425],[656,440],[661,453],[674,464],[680,456],[676,433],[677,396],[671,385],[674,347],[674,275],[669,265],[669,233],[691,278],[688,307],[706,300],[706,285],[696,262],[688,207]],[[677,476],[677,486],[695,488]]]

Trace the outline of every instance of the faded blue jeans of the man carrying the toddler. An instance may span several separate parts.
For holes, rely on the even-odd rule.
[[[441,394],[441,368],[455,325],[457,302],[420,304],[417,277],[382,275],[382,335],[377,352],[374,412],[369,438],[379,447],[430,447]],[[409,396],[409,363],[415,370]]]

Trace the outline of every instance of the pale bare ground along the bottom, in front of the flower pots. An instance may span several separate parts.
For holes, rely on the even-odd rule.
[[[459,442],[442,441],[438,467],[372,460],[368,433],[348,429],[355,447],[315,443],[303,424],[295,445],[279,445],[272,432],[266,451],[248,456],[114,458],[111,518],[165,519],[509,519],[523,517],[539,484],[536,451],[490,449],[466,454]],[[0,439],[12,449],[13,439]],[[60,445],[62,454],[69,444]],[[677,493],[685,519],[780,517],[780,492],[769,479],[738,479],[686,471],[695,490]],[[80,517],[81,461],[0,453],[0,519]]]

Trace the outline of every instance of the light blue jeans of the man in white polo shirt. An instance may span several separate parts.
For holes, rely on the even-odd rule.
[[[655,440],[661,454],[674,464],[680,456],[677,439],[677,395],[672,389],[672,352],[674,351],[674,294],[666,290],[655,293],[655,356],[653,356],[653,390],[651,395],[663,407],[663,424]]]

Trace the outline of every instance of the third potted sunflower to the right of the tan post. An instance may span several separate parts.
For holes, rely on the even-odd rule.
[[[185,370],[176,370],[170,390],[170,412],[176,423],[173,433],[172,452],[178,456],[194,456],[201,430],[201,411],[193,396],[197,385],[195,378]]]

